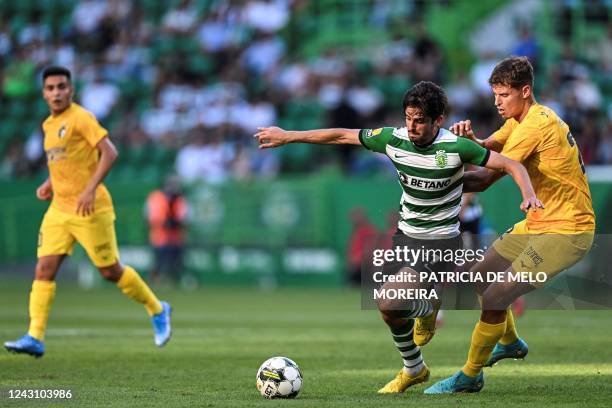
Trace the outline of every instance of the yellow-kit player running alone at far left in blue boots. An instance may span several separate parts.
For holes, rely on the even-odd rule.
[[[4,347],[36,357],[44,354],[55,276],[75,242],[83,246],[105,279],[144,305],[152,319],[155,344],[161,347],[171,335],[170,305],[160,302],[132,267],[119,262],[113,203],[102,184],[117,150],[96,118],[72,102],[74,88],[68,69],[48,67],[42,79],[43,97],[51,112],[42,125],[50,176],[38,187],[36,197],[52,201],[38,235],[28,333]]]

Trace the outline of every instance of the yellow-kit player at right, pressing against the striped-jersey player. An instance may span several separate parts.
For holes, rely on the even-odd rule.
[[[584,164],[567,124],[550,108],[536,102],[533,68],[526,57],[511,57],[498,63],[489,84],[495,106],[506,120],[504,125],[485,140],[474,136],[469,120],[454,124],[451,130],[523,163],[546,208],[529,212],[525,220],[497,239],[484,260],[471,270],[542,271],[550,279],[578,262],[593,242],[595,214]],[[466,190],[483,191],[502,176],[487,169],[467,172]],[[481,288],[482,313],[472,333],[467,362],[455,375],[425,392],[480,391],[484,385],[483,366],[492,366],[504,358],[523,358],[528,347],[518,337],[508,306],[536,289],[534,285],[494,282]]]

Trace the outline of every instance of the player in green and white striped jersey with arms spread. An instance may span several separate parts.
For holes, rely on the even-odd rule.
[[[259,128],[254,136],[262,149],[297,142],[361,144],[369,150],[386,154],[397,169],[403,189],[400,221],[393,246],[458,249],[462,247],[458,217],[464,163],[511,174],[523,196],[522,210],[536,210],[542,207],[542,203],[536,198],[522,165],[441,127],[447,105],[442,88],[432,82],[419,82],[404,96],[406,126],[403,128],[285,131],[266,127]],[[410,273],[412,270],[405,266],[401,261],[389,262],[384,265],[383,273]],[[444,262],[426,265],[423,259],[419,259],[413,268],[419,271],[431,268],[441,272],[452,271],[454,265],[450,268]],[[384,287],[394,286],[386,283]],[[435,324],[435,312],[432,311],[437,305],[426,299],[410,303],[411,307],[406,309],[404,304],[388,300],[378,302],[382,318],[389,326],[404,362],[397,376],[379,393],[400,393],[429,378],[429,369],[421,356],[413,328],[414,319],[421,316],[434,316]],[[421,339],[420,342],[425,341]]]

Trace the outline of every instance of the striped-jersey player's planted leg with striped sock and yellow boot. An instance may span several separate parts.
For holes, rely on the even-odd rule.
[[[402,268],[399,273],[414,273],[414,270]],[[399,282],[387,282],[382,287],[382,289],[405,288],[406,284]],[[404,363],[404,367],[396,377],[378,392],[380,394],[404,392],[408,387],[429,379],[429,368],[423,361],[421,349],[414,342],[414,318],[431,314],[433,306],[428,300],[415,300],[408,304],[388,299],[379,300],[377,305]]]

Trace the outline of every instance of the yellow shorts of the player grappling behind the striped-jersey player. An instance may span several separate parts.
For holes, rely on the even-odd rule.
[[[503,233],[493,248],[512,262],[515,272],[544,272],[548,282],[582,259],[593,245],[593,231],[574,234],[530,234],[523,220]],[[543,286],[544,283],[532,283]]]

